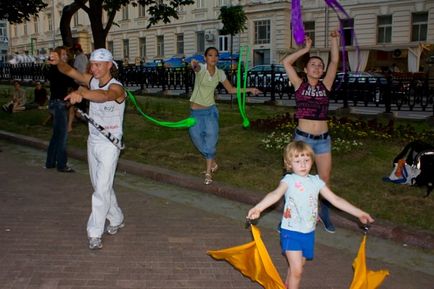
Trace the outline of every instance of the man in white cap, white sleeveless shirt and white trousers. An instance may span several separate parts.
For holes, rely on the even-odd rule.
[[[96,49],[90,56],[90,74],[80,73],[62,61],[57,53],[50,54],[50,64],[75,79],[81,86],[65,100],[72,104],[89,100],[89,116],[118,139],[122,139],[122,124],[126,93],[122,84],[113,78],[111,69],[117,68],[110,51]],[[102,248],[106,220],[107,233],[114,235],[124,227],[124,216],[113,189],[113,180],[120,150],[93,125],[89,124],[87,141],[89,173],[94,189],[92,212],[87,223],[89,249]]]

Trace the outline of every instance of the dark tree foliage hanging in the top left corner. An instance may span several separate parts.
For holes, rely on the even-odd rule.
[[[6,19],[11,24],[22,23],[29,21],[32,16],[37,16],[45,7],[47,4],[43,0],[2,0],[0,19]]]

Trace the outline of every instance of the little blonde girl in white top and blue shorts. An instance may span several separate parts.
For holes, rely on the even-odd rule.
[[[279,186],[268,193],[247,214],[248,219],[257,219],[261,213],[285,196],[285,207],[280,227],[282,252],[288,259],[286,287],[298,289],[306,259],[314,256],[315,225],[318,213],[318,194],[335,207],[357,218],[360,222],[372,223],[371,216],[335,195],[318,175],[310,175],[315,154],[302,142],[293,141],[285,148],[285,168],[292,171],[280,181]]]

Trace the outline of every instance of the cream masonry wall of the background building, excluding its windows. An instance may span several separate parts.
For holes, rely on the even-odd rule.
[[[33,20],[28,24],[27,35],[24,34],[23,24],[18,24],[17,35],[10,35],[10,51],[23,52],[29,50],[29,39],[37,39],[36,47],[46,50],[61,44],[58,28],[60,13],[64,5],[72,0],[54,0],[54,7],[49,6],[40,13],[38,18],[38,33],[34,33]],[[198,2],[197,0],[196,2]],[[196,32],[210,30],[215,34],[213,41],[206,41],[205,47],[218,45],[218,30],[222,24],[217,19],[220,12],[221,0],[202,0],[203,6],[197,4],[183,7],[179,12],[179,19],[171,23],[159,23],[149,29],[148,17],[138,17],[138,7],[129,6],[129,19],[122,20],[122,13],[118,11],[115,22],[107,37],[113,42],[113,54],[116,59],[123,59],[123,39],[129,39],[129,62],[132,63],[139,56],[139,38],[146,37],[146,60],[158,57],[157,35],[164,35],[164,55],[171,57],[176,54],[176,34],[184,34],[184,54],[186,56],[197,52]],[[270,61],[277,63],[282,57],[297,48],[292,40],[290,31],[291,1],[290,0],[234,0],[232,4],[241,4],[248,17],[247,30],[234,37],[234,52],[239,51],[240,45],[248,45],[252,51],[269,49]],[[419,43],[411,42],[411,16],[414,12],[428,12],[428,35],[426,44],[434,43],[434,1],[433,0],[341,0],[350,17],[354,18],[358,45],[361,50],[378,49],[393,51],[394,49],[415,48]],[[54,12],[54,13],[53,13]],[[302,1],[304,21],[315,21],[314,51],[328,50],[328,34],[338,27],[338,17],[333,9],[326,8],[324,0]],[[93,49],[92,35],[87,14],[79,11],[79,23],[71,26],[73,37],[79,39],[86,53]],[[48,14],[54,15],[55,31],[48,31]],[[377,44],[377,16],[392,17],[392,42]],[[269,44],[254,44],[254,22],[269,19],[271,21],[271,42]],[[14,31],[11,28],[8,31]],[[347,47],[349,51],[354,47]],[[434,48],[433,48],[434,49]],[[251,54],[252,55],[252,54]],[[252,62],[250,62],[252,63]]]

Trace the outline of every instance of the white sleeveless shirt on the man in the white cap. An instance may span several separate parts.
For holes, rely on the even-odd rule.
[[[91,90],[108,90],[111,84],[119,84],[118,80],[112,78],[104,86],[99,86],[99,80],[92,78],[89,83]],[[118,139],[122,139],[124,121],[125,100],[121,103],[110,100],[105,102],[89,102],[89,116],[95,120],[96,123],[104,127],[108,132]],[[108,141],[107,138],[101,134],[91,123],[89,123],[89,137],[92,140]]]

